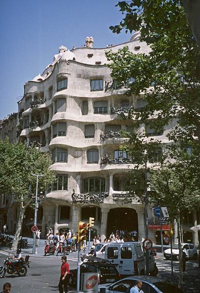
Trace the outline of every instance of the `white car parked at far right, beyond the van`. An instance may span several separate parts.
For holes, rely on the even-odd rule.
[[[193,258],[197,259],[198,252],[197,249],[195,248],[194,244],[191,243],[181,243],[182,247],[182,253],[186,258]],[[173,254],[173,259],[179,260],[179,246],[178,243],[174,244],[172,246],[172,254]],[[167,249],[164,251],[164,257],[166,259],[171,258],[171,249]]]

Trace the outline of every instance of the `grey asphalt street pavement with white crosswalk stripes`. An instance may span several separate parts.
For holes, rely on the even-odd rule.
[[[28,240],[28,247],[22,250],[22,254],[30,254],[30,268],[25,277],[18,277],[15,275],[5,274],[3,279],[0,279],[0,291],[5,282],[12,284],[11,293],[53,293],[59,292],[58,283],[60,276],[61,255],[47,255],[44,256],[44,240],[40,240],[38,254],[32,255],[32,239]],[[157,250],[158,251],[158,250]],[[14,253],[6,248],[0,248],[0,265],[8,253]],[[72,252],[67,256],[70,269],[77,268],[78,252]],[[158,252],[156,258],[159,275],[163,279],[172,281],[178,284],[179,281],[179,262],[174,261],[174,274],[171,274],[171,261],[165,260],[161,253]],[[198,269],[198,262],[190,260],[186,262],[186,271],[183,272],[184,292],[185,293],[199,293],[200,290],[200,270]],[[69,288],[69,292],[75,292]]]

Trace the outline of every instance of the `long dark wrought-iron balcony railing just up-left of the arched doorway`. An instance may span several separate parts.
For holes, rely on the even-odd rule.
[[[108,197],[109,191],[104,192],[88,192],[88,193],[75,193],[73,190],[72,193],[72,202],[73,203],[103,203],[104,199]]]

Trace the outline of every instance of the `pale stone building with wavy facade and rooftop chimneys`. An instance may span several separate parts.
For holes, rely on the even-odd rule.
[[[114,84],[105,56],[105,51],[117,51],[125,45],[136,54],[148,54],[149,48],[139,41],[139,35],[135,33],[129,42],[112,48],[93,48],[92,37],[86,38],[84,47],[71,51],[60,46],[43,73],[24,85],[24,96],[18,102],[17,134],[22,142],[49,152],[57,173],[57,182],[45,193],[38,209],[43,236],[49,228],[76,232],[80,220],[94,217],[93,233],[102,235],[101,239],[116,230],[136,230],[138,239],[145,238],[144,205],[124,200],[127,172],[133,165],[120,150],[124,139],[118,134],[133,121],[122,120],[116,113],[117,108],[145,104]],[[147,136],[159,136],[164,147],[167,128],[162,133],[145,126],[143,130]],[[8,221],[13,231],[18,214],[14,209]],[[24,221],[24,234],[28,234],[33,211],[26,211]],[[153,242],[158,242],[159,235],[156,226],[149,230]]]

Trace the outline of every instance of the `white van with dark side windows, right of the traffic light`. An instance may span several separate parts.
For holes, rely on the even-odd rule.
[[[140,242],[99,243],[96,246],[97,257],[105,258],[116,265],[120,275],[145,273],[145,256]],[[149,271],[158,274],[153,251],[149,251]]]

